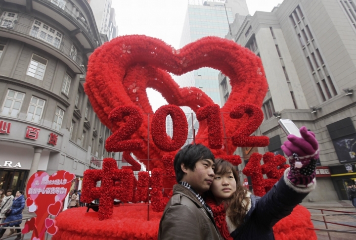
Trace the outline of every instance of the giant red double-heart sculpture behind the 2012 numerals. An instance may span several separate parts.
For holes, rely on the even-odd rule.
[[[261,59],[233,41],[206,37],[175,50],[158,39],[146,36],[116,38],[91,54],[85,91],[101,122],[114,132],[123,124],[112,124],[108,120],[108,115],[114,108],[135,104],[145,113],[152,112],[146,95],[147,87],[159,91],[170,104],[189,106],[195,112],[200,107],[213,103],[197,88],[179,88],[168,74],[171,72],[181,75],[201,67],[219,69],[230,78],[232,91],[221,109],[227,149],[213,150],[213,153],[232,155],[236,147],[232,145],[230,137],[247,118],[231,119],[228,112],[233,105],[241,102],[261,106],[267,93]],[[150,123],[152,115],[150,114]],[[144,115],[143,124],[131,139],[148,139],[147,120],[147,115]],[[207,146],[206,136],[206,121],[199,122],[196,142]],[[134,151],[134,155],[139,159],[147,159],[147,144],[145,141],[145,147]],[[161,159],[167,154],[156,147],[152,140],[149,146],[150,159]],[[146,160],[141,161],[147,165]],[[164,169],[162,161],[150,160],[150,169],[154,167]]]

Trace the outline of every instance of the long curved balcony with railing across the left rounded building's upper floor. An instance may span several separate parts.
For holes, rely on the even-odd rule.
[[[59,42],[36,27],[28,27],[16,21],[0,19],[0,36],[15,39],[37,48],[41,48],[62,60],[76,74],[84,74],[81,52],[68,48],[64,42]]]

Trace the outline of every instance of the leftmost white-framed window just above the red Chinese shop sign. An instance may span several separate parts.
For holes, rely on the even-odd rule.
[[[13,90],[7,90],[7,94],[2,106],[1,115],[17,117],[20,112],[25,94]]]

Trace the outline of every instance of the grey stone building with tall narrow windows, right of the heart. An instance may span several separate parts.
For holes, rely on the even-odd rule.
[[[319,142],[318,185],[306,200],[347,200],[356,180],[356,1],[284,0],[271,12],[234,22],[227,38],[261,57],[269,85],[256,135],[270,138],[264,153],[282,153],[278,119],[307,126]],[[231,86],[219,74],[221,101]],[[251,149],[239,149],[248,161]],[[246,152],[246,154],[245,154]]]

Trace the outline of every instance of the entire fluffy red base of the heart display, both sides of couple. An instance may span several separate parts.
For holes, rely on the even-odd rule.
[[[98,213],[87,208],[71,208],[55,218],[58,232],[52,240],[157,240],[162,212],[153,212],[147,221],[147,205],[125,204],[114,207],[112,219],[98,220]],[[311,215],[298,205],[291,215],[274,227],[276,240],[316,240]]]

